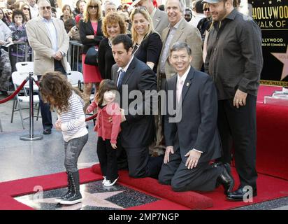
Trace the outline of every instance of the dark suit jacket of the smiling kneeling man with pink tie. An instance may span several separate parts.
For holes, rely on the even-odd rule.
[[[176,105],[176,84],[178,76],[167,80],[166,90],[173,90],[168,97],[168,106]],[[202,151],[199,162],[207,162],[221,156],[221,142],[217,130],[217,92],[208,74],[191,67],[182,89],[182,118],[177,123],[169,122],[175,118],[168,114],[164,119],[166,146],[180,148],[182,161],[185,154],[195,148]],[[178,147],[179,146],[179,147]]]

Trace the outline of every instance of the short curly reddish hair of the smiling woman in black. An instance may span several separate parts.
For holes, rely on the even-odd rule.
[[[107,31],[107,26],[108,25],[119,25],[120,27],[120,34],[126,34],[126,24],[124,22],[124,18],[122,18],[119,13],[109,13],[106,15],[106,17],[103,18],[102,22],[102,31],[104,36],[107,38],[109,37],[108,31]]]

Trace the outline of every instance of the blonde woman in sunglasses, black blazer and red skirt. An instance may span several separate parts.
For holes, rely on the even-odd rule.
[[[102,9],[99,0],[89,0],[85,7],[82,20],[79,22],[80,39],[83,44],[82,70],[84,78],[85,108],[89,104],[89,98],[93,84],[98,90],[101,82],[101,74],[96,65],[85,64],[86,53],[89,48],[98,48],[100,41],[103,39],[102,27]],[[95,90],[95,94],[96,94]]]

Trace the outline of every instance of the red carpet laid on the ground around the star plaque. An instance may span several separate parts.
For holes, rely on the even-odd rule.
[[[92,170],[99,173],[99,165],[95,165],[93,169],[80,169],[81,183],[102,179],[100,174],[95,174]],[[233,170],[233,176],[236,176],[235,170]],[[237,186],[238,180],[236,181]],[[125,171],[120,172],[119,184],[161,199],[150,204],[131,207],[129,210],[233,209],[247,205],[244,202],[227,201],[222,188],[218,188],[211,193],[196,193],[192,191],[175,193],[171,190],[170,186],[162,186],[151,178],[132,179]],[[17,202],[13,197],[36,193],[34,191],[35,186],[42,186],[43,190],[62,188],[66,186],[66,174],[62,172],[0,183],[0,210],[31,210],[30,207]],[[253,203],[287,196],[288,181],[259,174],[258,196],[254,197]]]

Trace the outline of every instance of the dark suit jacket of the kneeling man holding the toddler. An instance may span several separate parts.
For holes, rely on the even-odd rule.
[[[118,66],[114,64],[112,67],[112,78],[115,83],[117,83],[119,75],[117,70]],[[126,93],[122,92],[122,89],[119,90],[121,97],[120,106],[126,113],[126,121],[121,124],[122,146],[124,148],[147,147],[154,139],[154,117],[152,115],[145,115],[144,107],[148,106],[148,110],[151,111],[151,106],[144,104],[145,98],[143,97],[142,102],[138,102],[139,104],[133,106],[134,109],[143,110],[143,114],[136,113],[136,115],[131,115],[131,113],[129,113],[129,107],[131,108],[131,102],[133,102],[136,97],[134,97],[134,99],[128,99],[128,95],[132,90],[139,90],[143,95],[145,90],[157,90],[157,78],[147,64],[134,57],[122,80],[122,85],[127,85],[128,87],[128,92]],[[156,91],[154,93],[157,95]]]

